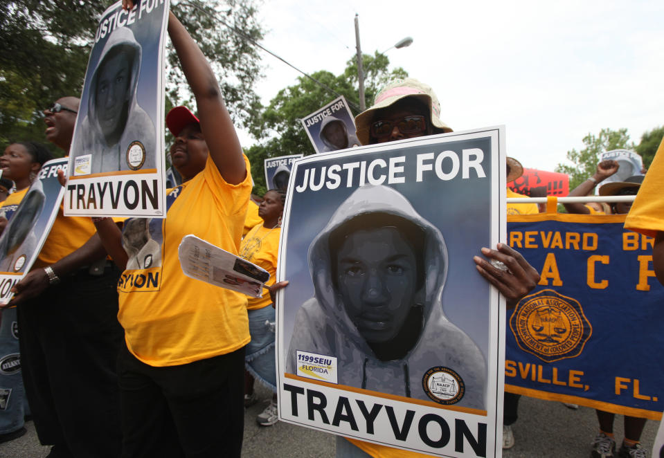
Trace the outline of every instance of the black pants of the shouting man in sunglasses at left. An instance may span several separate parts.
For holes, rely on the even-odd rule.
[[[99,276],[81,270],[18,307],[21,372],[37,435],[62,456],[120,455],[119,274],[114,266]]]

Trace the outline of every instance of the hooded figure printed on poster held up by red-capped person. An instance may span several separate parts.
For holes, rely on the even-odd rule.
[[[155,167],[156,130],[136,100],[140,72],[141,45],[132,30],[116,28],[90,80],[87,116],[76,129],[72,149],[75,157],[91,154],[90,167],[84,172],[76,167],[74,174]],[[127,149],[135,141],[141,142],[144,154],[134,154],[129,161]]]

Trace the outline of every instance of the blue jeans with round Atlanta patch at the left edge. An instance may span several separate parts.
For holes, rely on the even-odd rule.
[[[1,311],[0,318],[0,434],[6,434],[23,428],[27,401],[21,376],[16,307]]]

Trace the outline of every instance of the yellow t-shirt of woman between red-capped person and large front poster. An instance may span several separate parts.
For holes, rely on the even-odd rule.
[[[268,285],[274,284],[277,273],[280,234],[281,228],[264,228],[260,223],[244,236],[240,245],[240,256],[270,273],[270,280],[266,283]],[[249,310],[262,309],[271,303],[269,293],[263,291],[263,297],[247,297],[246,308]]]

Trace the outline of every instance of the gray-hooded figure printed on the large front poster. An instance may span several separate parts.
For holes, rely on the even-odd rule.
[[[486,408],[485,360],[442,309],[445,240],[402,194],[360,187],[308,257],[314,297],[296,314],[286,372],[309,351],[338,358],[340,385],[431,401],[423,376],[447,367],[465,385],[456,405]]]

